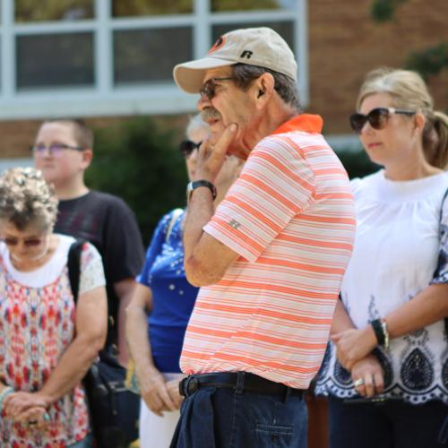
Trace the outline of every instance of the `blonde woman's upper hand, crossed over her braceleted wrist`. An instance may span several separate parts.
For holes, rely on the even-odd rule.
[[[351,371],[354,364],[375,349],[378,341],[371,325],[362,330],[350,329],[331,336],[340,364]]]

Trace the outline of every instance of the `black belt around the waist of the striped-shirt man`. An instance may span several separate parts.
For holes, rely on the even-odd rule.
[[[242,379],[239,382],[238,378]],[[274,383],[262,376],[247,372],[223,372],[215,374],[189,375],[179,383],[179,392],[184,397],[188,397],[201,387],[214,386],[228,389],[239,389],[241,392],[262,393],[274,395],[281,398],[289,396],[302,397],[303,389],[294,389],[282,383]]]

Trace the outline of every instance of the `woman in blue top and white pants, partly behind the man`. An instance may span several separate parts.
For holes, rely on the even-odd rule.
[[[191,178],[197,143],[209,135],[209,128],[200,116],[194,116],[186,134],[189,140],[181,144],[181,151]],[[240,159],[228,158],[216,180],[215,206],[223,199],[241,167]],[[182,397],[178,383],[183,376],[179,358],[199,290],[185,277],[184,217],[185,210],[176,209],[159,221],[138,278],[138,287],[127,308],[127,340],[142,394],[142,448],[168,447],[179,418]]]

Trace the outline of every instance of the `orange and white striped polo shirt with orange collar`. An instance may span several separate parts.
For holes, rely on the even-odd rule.
[[[203,228],[240,256],[200,289],[180,365],[246,371],[306,389],[322,363],[355,211],[349,178],[300,115],[259,142]]]

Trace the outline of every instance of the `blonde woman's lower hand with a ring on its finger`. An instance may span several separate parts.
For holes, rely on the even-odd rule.
[[[383,392],[383,367],[373,354],[367,355],[353,365],[351,378],[354,384],[360,383],[355,388],[363,397],[373,397],[376,393]]]

